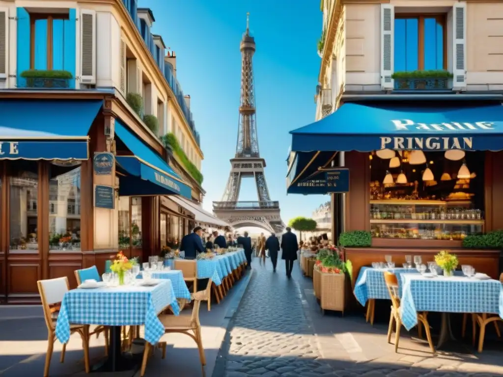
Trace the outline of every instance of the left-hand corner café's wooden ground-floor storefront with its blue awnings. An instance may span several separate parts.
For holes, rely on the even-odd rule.
[[[103,272],[119,248],[157,254],[161,201],[194,197],[110,93],[6,91],[0,114],[0,303],[39,302],[40,279],[74,287],[74,270]]]

